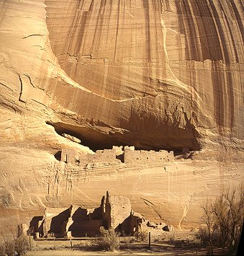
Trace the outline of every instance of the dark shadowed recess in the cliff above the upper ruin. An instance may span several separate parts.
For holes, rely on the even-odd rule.
[[[66,133],[79,138],[81,145],[88,146],[93,151],[112,149],[112,146],[135,146],[135,149],[164,149],[176,152],[181,151],[184,147],[190,150],[201,149],[198,141],[199,134],[189,122],[186,123],[186,129],[182,129],[163,123],[156,124],[155,120],[149,119],[143,117],[143,120],[141,120],[135,114],[131,116],[130,120],[121,120],[121,125],[130,129],[130,131],[110,128],[106,129],[106,132],[101,131],[102,126],[96,126],[95,128],[88,125],[71,125],[50,121],[46,123],[52,125],[59,135]]]

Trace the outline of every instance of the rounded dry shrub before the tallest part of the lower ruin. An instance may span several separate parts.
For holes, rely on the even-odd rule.
[[[119,233],[114,229],[104,229],[103,226],[99,230],[101,237],[94,240],[94,243],[106,251],[119,250]]]

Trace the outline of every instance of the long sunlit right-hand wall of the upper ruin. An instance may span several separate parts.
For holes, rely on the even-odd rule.
[[[161,150],[157,151],[145,151],[134,150],[132,147],[125,147],[125,164],[157,164],[166,161],[173,160],[173,151]]]

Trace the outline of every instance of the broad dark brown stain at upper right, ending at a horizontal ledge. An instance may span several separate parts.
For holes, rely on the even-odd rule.
[[[175,0],[175,3],[180,32],[186,37],[186,59],[196,61],[223,60],[229,64],[231,61],[225,33],[213,1]],[[191,8],[189,3],[191,3]],[[193,13],[191,13],[191,9]],[[194,22],[193,16],[196,22]],[[197,27],[194,26],[195,23]],[[201,45],[197,43],[196,37],[198,36]]]

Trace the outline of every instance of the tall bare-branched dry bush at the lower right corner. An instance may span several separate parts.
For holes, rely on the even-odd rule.
[[[236,250],[240,241],[244,216],[244,187],[222,193],[213,203],[204,203],[203,222],[196,238],[201,239],[212,252],[214,246]],[[210,250],[209,249],[209,250]]]

